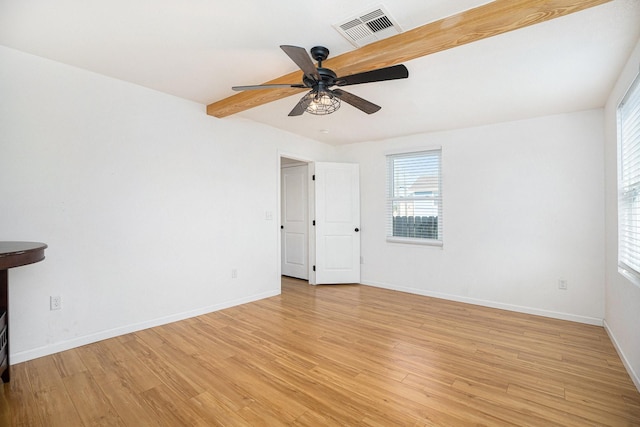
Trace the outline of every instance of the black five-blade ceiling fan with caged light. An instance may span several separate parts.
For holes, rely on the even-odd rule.
[[[373,114],[382,107],[342,89],[331,88],[333,86],[342,87],[361,83],[406,79],[409,77],[409,70],[407,70],[407,67],[402,64],[338,77],[333,70],[322,67],[322,61],[327,59],[329,56],[329,49],[326,47],[316,46],[310,50],[311,57],[318,62],[317,67],[313,65],[311,58],[304,48],[289,45],[282,45],[280,48],[293,60],[293,62],[296,63],[296,65],[298,65],[298,67],[300,67],[304,73],[302,83],[234,86],[232,89],[236,91],[276,88],[311,89],[302,97],[302,99],[300,99],[298,104],[293,107],[289,116],[300,116],[305,112],[315,115],[331,114],[340,108],[340,101],[351,104],[367,114]]]

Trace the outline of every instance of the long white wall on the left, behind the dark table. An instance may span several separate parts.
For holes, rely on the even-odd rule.
[[[49,245],[9,271],[12,363],[280,292],[278,153],[332,147],[3,47],[0,64],[0,240]]]

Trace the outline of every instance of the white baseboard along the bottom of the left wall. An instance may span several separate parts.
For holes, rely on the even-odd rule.
[[[153,328],[155,326],[166,325],[167,323],[173,323],[179,320],[201,316],[203,314],[212,313],[214,311],[219,311],[225,308],[230,308],[230,307],[246,304],[253,301],[258,301],[258,300],[273,297],[276,295],[280,295],[280,289],[263,292],[256,295],[251,295],[245,298],[238,298],[235,300],[226,301],[221,304],[214,304],[206,307],[201,307],[195,310],[176,313],[170,316],[160,317],[160,318],[148,320],[145,322],[134,323],[131,325],[121,326],[121,327],[109,329],[106,331],[84,335],[71,340],[57,342],[52,345],[47,345],[43,347],[34,348],[31,350],[12,353],[10,355],[11,364],[14,365],[16,363],[26,362],[28,360],[37,359],[43,356],[49,356],[51,354],[60,353],[61,351],[71,350],[72,348],[81,347],[83,345],[92,344],[94,342],[103,341],[103,340],[114,338],[120,335],[141,331],[143,329]]]

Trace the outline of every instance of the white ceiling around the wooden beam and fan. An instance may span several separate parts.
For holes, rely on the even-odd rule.
[[[355,49],[332,27],[384,6],[403,30],[481,0],[0,0],[0,44],[204,105],[296,71],[281,44]],[[224,119],[346,144],[598,108],[640,38],[640,1],[614,0],[405,63],[351,86],[382,106],[288,117],[295,95]],[[334,70],[340,75],[340,70]],[[297,83],[297,82],[292,82]],[[97,100],[96,100],[97,101]]]

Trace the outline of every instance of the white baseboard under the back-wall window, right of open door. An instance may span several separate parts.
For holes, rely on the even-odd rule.
[[[364,284],[375,286],[378,288],[390,289],[393,291],[407,292],[410,294],[446,299],[449,301],[457,301],[457,302],[463,302],[466,304],[481,305],[483,307],[498,308],[500,310],[533,314],[536,316],[550,317],[553,319],[568,320],[571,322],[585,323],[587,325],[602,326],[602,319],[598,319],[596,317],[580,316],[577,314],[562,313],[558,311],[544,310],[544,309],[534,308],[534,307],[525,307],[520,305],[504,304],[500,302],[477,299],[477,298],[461,297],[453,294],[445,294],[441,292],[432,292],[432,291],[427,291],[427,290],[417,289],[417,288],[408,288],[404,286],[390,285],[388,283],[366,281],[366,283]]]

